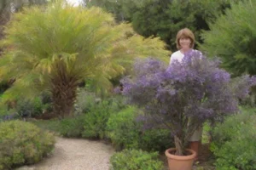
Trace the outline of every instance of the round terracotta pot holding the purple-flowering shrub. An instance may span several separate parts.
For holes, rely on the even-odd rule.
[[[191,155],[175,156],[171,154],[175,152],[175,150],[175,148],[166,150],[169,170],[191,170],[196,156],[195,151],[187,149]]]

